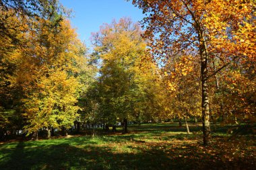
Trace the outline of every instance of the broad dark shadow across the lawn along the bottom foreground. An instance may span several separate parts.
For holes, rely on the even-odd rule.
[[[108,146],[73,146],[67,143],[30,147],[19,142],[13,149],[1,149],[9,159],[0,169],[252,169],[244,160],[222,162],[197,146],[145,144],[127,146],[117,152]],[[213,161],[214,160],[214,161]]]

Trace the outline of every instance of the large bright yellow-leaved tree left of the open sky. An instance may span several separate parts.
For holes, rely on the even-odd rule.
[[[17,69],[11,83],[22,87],[23,116],[28,134],[40,128],[70,127],[77,119],[77,98],[82,73],[88,62],[84,45],[67,20],[54,29],[50,20],[39,19],[37,34],[29,32],[27,48],[16,53]],[[88,67],[90,68],[90,67]]]

